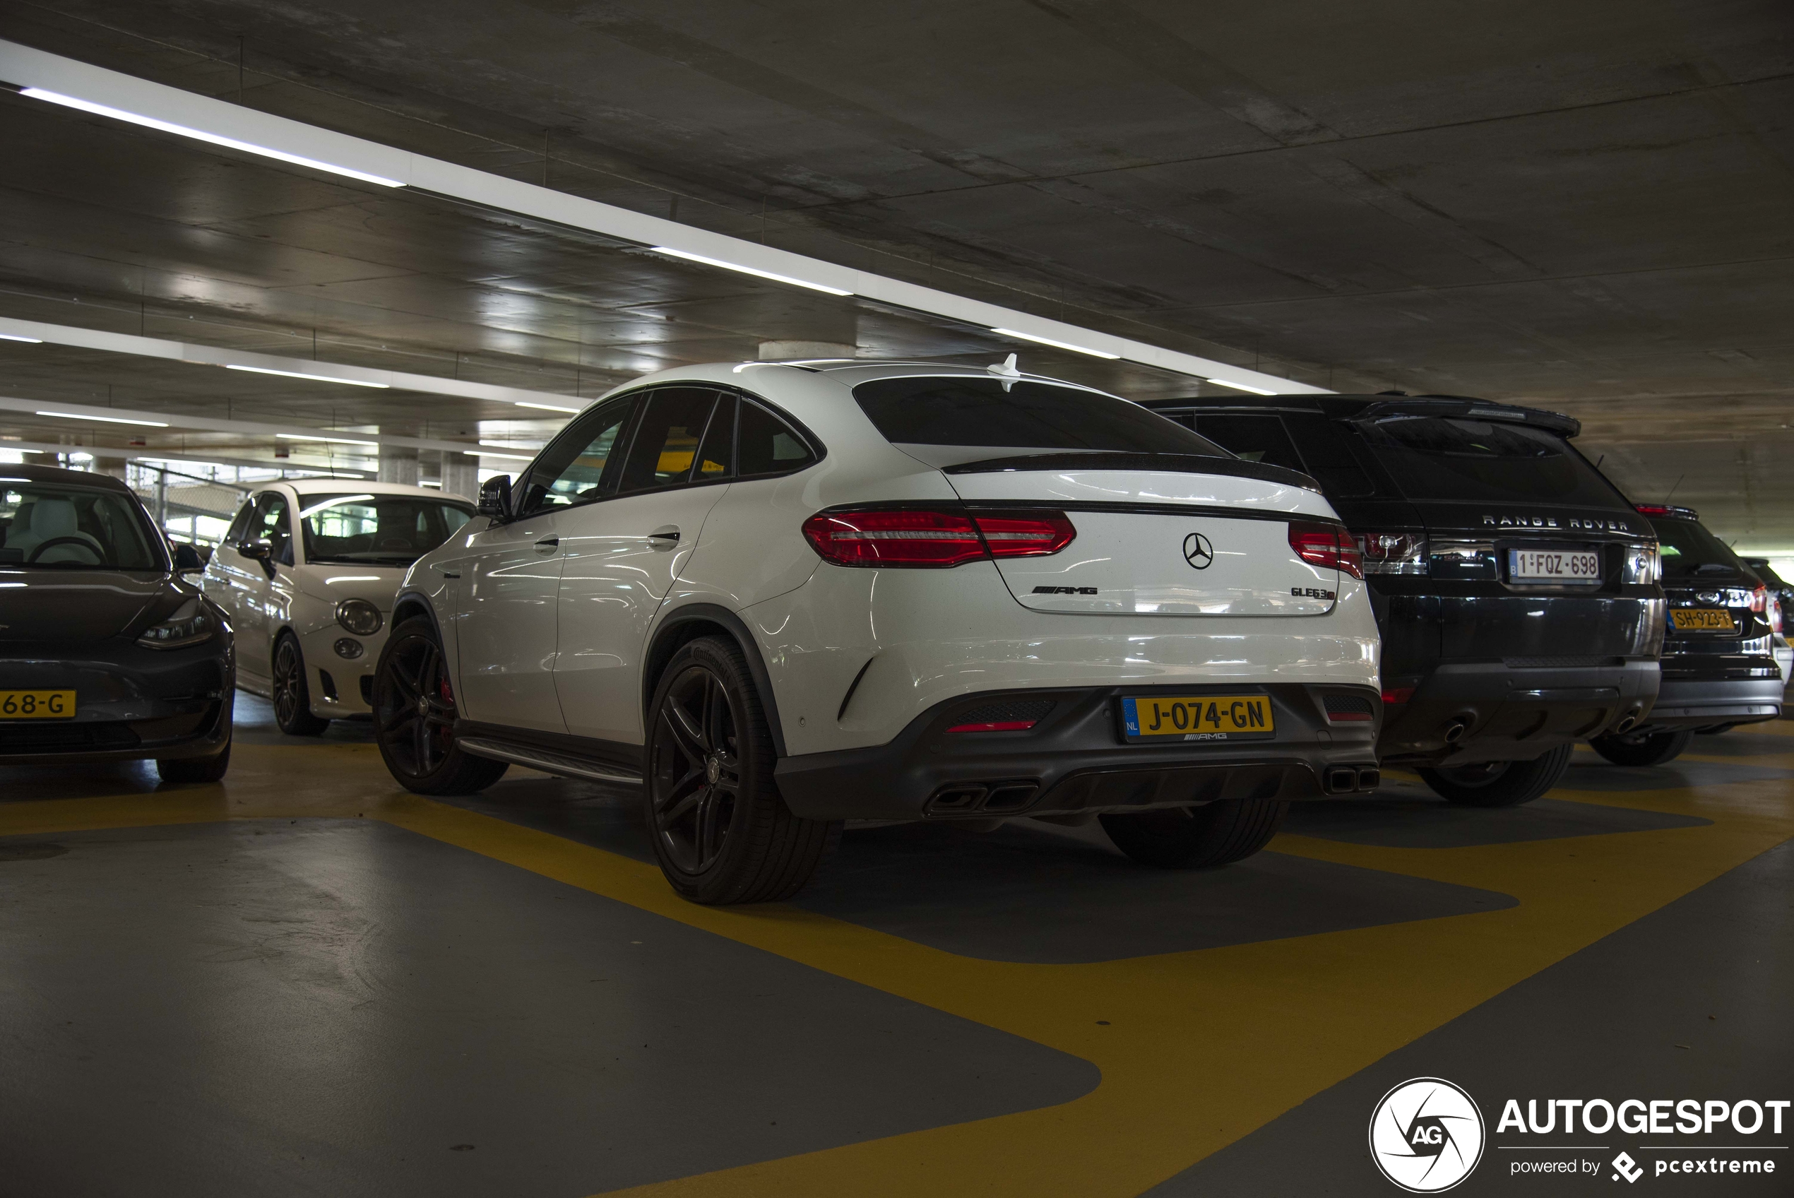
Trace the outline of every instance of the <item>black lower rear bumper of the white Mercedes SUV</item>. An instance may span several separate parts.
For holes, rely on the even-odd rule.
[[[1274,741],[1128,744],[1123,694],[1256,694]],[[1324,696],[1367,705],[1331,723]],[[779,791],[807,820],[962,820],[1184,807],[1232,798],[1310,800],[1376,786],[1378,692],[1353,685],[1084,687],[969,694],[938,703],[888,744],[779,762]],[[1046,701],[1026,732],[949,734],[997,701]]]

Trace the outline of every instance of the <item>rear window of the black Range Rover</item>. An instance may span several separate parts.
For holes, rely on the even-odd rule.
[[[1459,416],[1387,416],[1360,425],[1408,499],[1627,508],[1555,432]]]

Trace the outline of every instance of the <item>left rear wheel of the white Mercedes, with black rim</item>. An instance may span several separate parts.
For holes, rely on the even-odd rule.
[[[791,814],[775,764],[741,647],[721,637],[682,646],[648,707],[642,803],[660,872],[684,898],[789,898],[840,839],[840,823]]]

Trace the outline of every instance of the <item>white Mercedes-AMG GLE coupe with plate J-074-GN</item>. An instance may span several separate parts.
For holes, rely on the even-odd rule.
[[[1376,784],[1376,624],[1315,482],[1014,359],[649,375],[479,509],[396,597],[388,766],[642,782],[698,902],[791,895],[843,820],[1096,818],[1220,864]]]

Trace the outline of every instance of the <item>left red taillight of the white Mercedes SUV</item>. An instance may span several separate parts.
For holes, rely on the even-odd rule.
[[[1055,554],[1078,531],[1062,511],[972,513],[936,508],[818,511],[804,536],[823,561],[947,569],[988,558]]]

